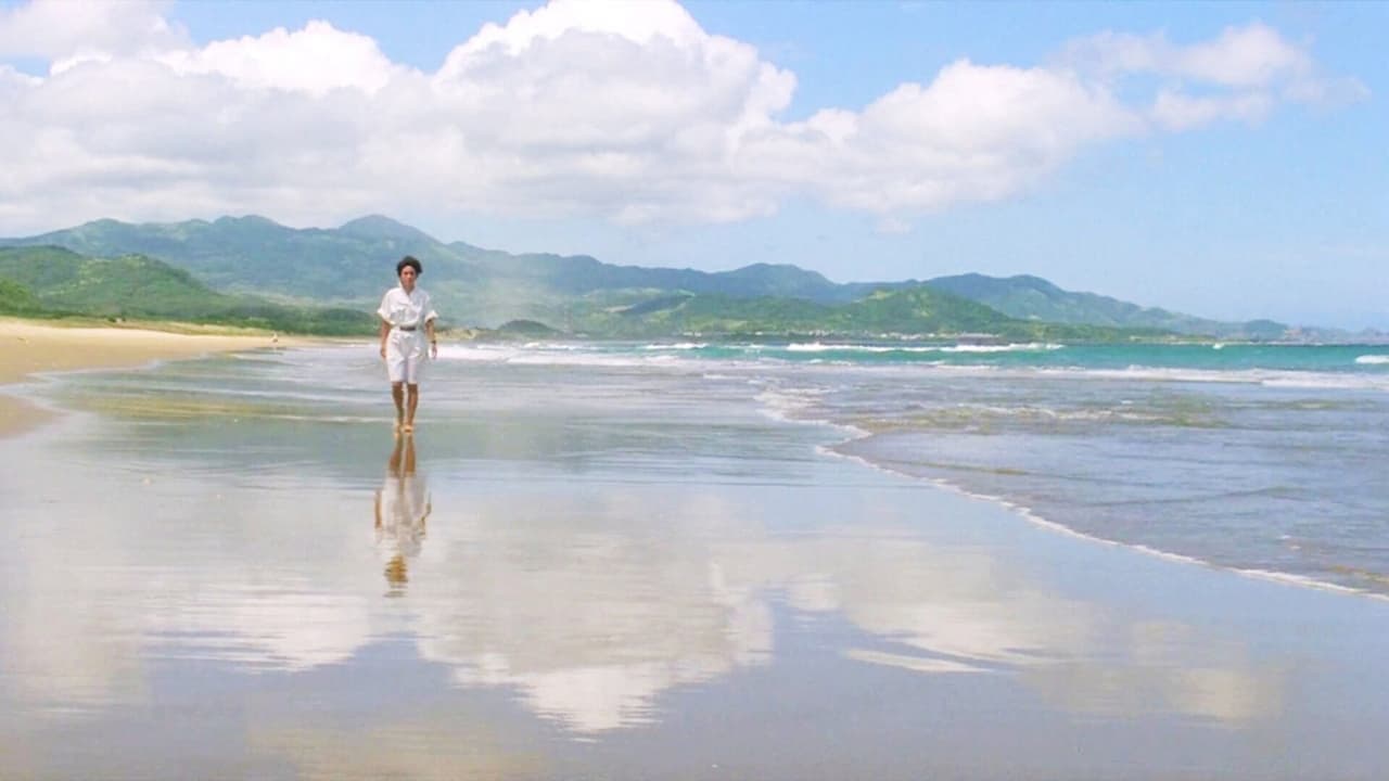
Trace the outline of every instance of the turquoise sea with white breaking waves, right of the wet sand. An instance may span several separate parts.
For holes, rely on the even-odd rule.
[[[532,343],[457,357],[745,384],[772,414],[835,427],[836,453],[1057,529],[1389,596],[1389,345]]]

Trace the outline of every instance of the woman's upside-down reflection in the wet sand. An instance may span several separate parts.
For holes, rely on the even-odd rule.
[[[429,492],[415,474],[415,438],[403,435],[386,461],[386,481],[376,491],[376,545],[386,556],[389,596],[399,596],[410,581],[408,560],[419,553],[429,518]]]

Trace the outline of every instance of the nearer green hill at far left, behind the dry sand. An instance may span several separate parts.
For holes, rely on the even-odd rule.
[[[358,310],[218,293],[188,271],[146,256],[92,258],[50,246],[0,249],[0,311],[181,320],[303,334],[375,329],[375,318]]]

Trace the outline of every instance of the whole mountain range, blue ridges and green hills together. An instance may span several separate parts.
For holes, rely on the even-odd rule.
[[[113,302],[122,300],[126,314],[176,317],[204,306],[214,318],[250,322],[260,317],[289,322],[288,331],[325,324],[356,329],[346,313],[369,314],[394,283],[394,261],[413,254],[425,267],[421,283],[444,320],[458,327],[524,320],[568,334],[633,338],[699,331],[989,332],[1057,339],[1167,332],[1276,339],[1288,332],[1272,321],[1222,322],[1063,290],[1038,277],[967,274],[836,283],[790,264],[758,263],[724,272],[614,265],[589,256],[513,254],[444,243],[381,215],[332,229],[289,228],[254,215],[171,224],[99,220],[0,239],[0,247],[11,247],[0,250],[0,304],[14,302],[10,309],[15,311],[47,307],[110,314],[119,309]],[[65,271],[57,277],[67,288],[57,289],[54,274],[25,272],[21,247],[49,247],[46,265],[61,257]],[[56,249],[71,257],[53,254]],[[117,258],[124,260],[113,265]],[[106,281],[76,285],[82,274]],[[133,277],[117,282],[122,274]],[[131,279],[150,283],[154,277],[164,288],[129,289]],[[140,307],[132,302],[144,309],[136,311]],[[313,314],[324,307],[338,311]]]

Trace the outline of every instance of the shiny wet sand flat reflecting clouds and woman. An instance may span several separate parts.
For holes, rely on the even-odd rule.
[[[945,454],[900,427],[879,463],[828,418],[881,425],[896,368],[444,345],[396,439],[372,343],[232,350],[54,375],[71,414],[0,439],[7,777],[1389,760],[1389,600],[1057,528],[908,474]]]

